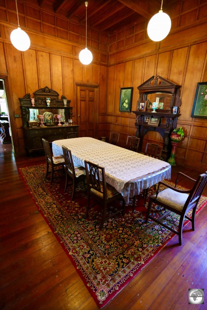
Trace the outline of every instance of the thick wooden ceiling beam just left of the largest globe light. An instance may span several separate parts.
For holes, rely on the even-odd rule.
[[[150,19],[153,15],[159,12],[161,4],[156,0],[118,0],[126,7],[144,16],[146,19]]]

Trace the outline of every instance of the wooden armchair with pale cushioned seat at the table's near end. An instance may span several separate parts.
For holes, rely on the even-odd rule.
[[[182,175],[182,177],[185,177],[187,180],[194,181],[195,182],[194,186],[189,190],[181,190],[176,188],[178,184],[179,175]],[[160,191],[161,184],[165,185],[167,188]],[[192,230],[195,230],[196,208],[198,206],[200,196],[202,195],[206,184],[207,184],[207,171],[199,175],[197,180],[190,178],[189,176],[185,175],[182,172],[178,172],[174,187],[165,182],[159,182],[156,194],[151,196],[149,199],[146,215],[146,223],[148,222],[148,219],[152,219],[156,223],[176,233],[178,235],[179,244],[182,245],[183,221],[185,218],[190,220],[192,223]],[[155,215],[154,217],[152,214],[150,215],[152,203],[162,206],[164,209],[168,209],[169,211],[166,212],[164,215],[160,216],[159,218],[157,218],[157,216],[155,215],[156,211],[153,211],[152,214]],[[186,215],[190,210],[192,210],[191,218],[189,218],[189,216]],[[172,226],[169,227],[168,225],[164,224],[161,221],[164,218],[166,218],[166,216],[168,216],[169,213],[172,211],[180,215],[178,231],[173,229]]]

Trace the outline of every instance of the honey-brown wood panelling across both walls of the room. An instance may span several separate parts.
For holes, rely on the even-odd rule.
[[[133,87],[132,110],[138,100],[137,86],[156,73],[181,85],[181,116],[178,126],[185,139],[176,151],[176,162],[207,170],[207,120],[191,118],[197,82],[207,81],[207,1],[172,1],[169,35],[152,42],[146,33],[147,21],[107,35],[87,31],[92,64],[83,66],[79,51],[84,48],[85,29],[76,20],[54,15],[52,8],[36,1],[18,1],[20,25],[26,27],[31,46],[17,51],[10,42],[16,28],[15,1],[0,2],[0,78],[9,93],[12,137],[17,153],[24,151],[19,97],[48,86],[71,100],[77,122],[76,83],[98,86],[97,138],[120,132],[120,146],[128,134],[135,135],[135,115],[119,112],[121,87]],[[19,118],[14,115],[19,114]],[[149,139],[156,141],[153,133]],[[161,143],[161,141],[160,141]]]

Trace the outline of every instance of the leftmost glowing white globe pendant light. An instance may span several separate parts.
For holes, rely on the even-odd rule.
[[[29,39],[28,34],[24,30],[21,30],[20,28],[17,3],[16,3],[16,13],[17,13],[17,20],[18,20],[18,28],[11,32],[10,40],[13,46],[16,47],[17,50],[26,51],[30,47],[30,39]]]

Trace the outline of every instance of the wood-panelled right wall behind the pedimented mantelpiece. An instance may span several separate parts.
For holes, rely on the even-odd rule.
[[[120,88],[133,87],[132,111],[136,110],[137,86],[158,74],[181,85],[177,127],[184,129],[185,138],[177,147],[176,162],[206,171],[207,119],[192,118],[191,111],[197,83],[207,81],[207,1],[181,0],[168,12],[172,28],[161,42],[149,40],[146,21],[110,37],[106,136],[120,132],[119,145],[124,147],[127,135],[136,134],[134,113],[119,112]],[[146,139],[162,144],[155,132]]]

